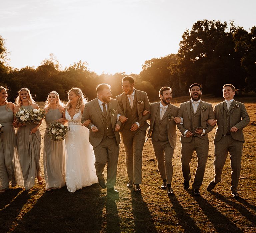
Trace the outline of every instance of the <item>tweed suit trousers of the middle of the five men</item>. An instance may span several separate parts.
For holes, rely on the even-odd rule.
[[[167,179],[167,184],[171,184],[173,176],[172,157],[174,149],[170,146],[169,141],[156,141],[153,138],[151,138],[151,141],[161,179]]]

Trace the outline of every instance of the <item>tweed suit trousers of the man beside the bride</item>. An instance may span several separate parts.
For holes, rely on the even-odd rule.
[[[99,180],[104,179],[104,168],[107,164],[107,188],[113,188],[116,183],[117,163],[119,155],[119,145],[116,138],[106,137],[101,143],[93,147],[95,155],[95,169]]]

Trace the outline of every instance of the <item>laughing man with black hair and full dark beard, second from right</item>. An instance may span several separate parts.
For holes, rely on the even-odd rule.
[[[183,188],[189,188],[191,178],[189,163],[194,151],[197,155],[197,168],[192,184],[192,194],[200,196],[199,188],[202,185],[206,162],[209,152],[208,133],[214,126],[206,124],[208,119],[214,119],[212,105],[201,100],[202,87],[194,83],[189,88],[191,100],[180,104],[178,117],[175,122],[181,132],[181,168],[183,173]]]

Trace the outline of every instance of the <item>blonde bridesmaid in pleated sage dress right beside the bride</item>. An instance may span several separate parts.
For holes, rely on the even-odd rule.
[[[65,185],[65,141],[52,141],[48,136],[48,128],[52,122],[65,123],[62,117],[64,104],[59,98],[59,94],[52,91],[45,102],[44,111],[46,129],[44,133],[44,175],[45,189],[51,191]]]

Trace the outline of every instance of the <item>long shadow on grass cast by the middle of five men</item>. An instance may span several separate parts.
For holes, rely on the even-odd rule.
[[[201,232],[200,228],[197,227],[194,220],[188,215],[188,213],[179,203],[176,196],[169,196],[169,199],[172,203],[173,209],[177,214],[179,223],[184,229],[184,232]]]

